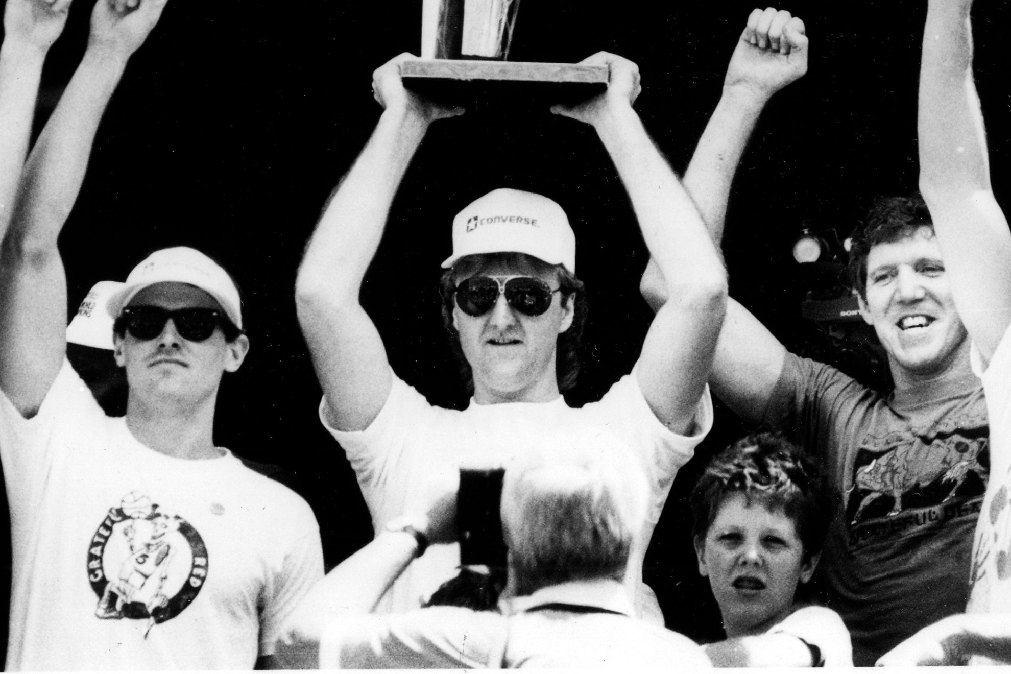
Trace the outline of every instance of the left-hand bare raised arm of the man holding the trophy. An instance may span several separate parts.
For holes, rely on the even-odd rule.
[[[403,88],[400,63],[412,58],[400,55],[373,75],[382,116],[327,204],[295,284],[298,322],[327,397],[329,421],[341,430],[368,427],[392,385],[382,339],[359,303],[390,204],[429,124],[463,112]]]

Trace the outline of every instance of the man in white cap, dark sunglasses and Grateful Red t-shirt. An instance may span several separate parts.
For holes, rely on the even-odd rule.
[[[125,416],[106,416],[66,360],[57,237],[105,104],[164,4],[95,4],[88,51],[25,164],[0,249],[8,670],[252,669],[323,575],[308,504],[214,445],[221,377],[249,350],[221,267],[165,249],[109,298]]]

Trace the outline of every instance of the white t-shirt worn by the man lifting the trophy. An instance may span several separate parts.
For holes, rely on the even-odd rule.
[[[452,484],[460,467],[508,467],[532,453],[565,448],[628,453],[645,472],[649,510],[629,559],[628,586],[637,594],[637,614],[662,621],[655,596],[643,593],[642,562],[677,470],[713,425],[709,389],[696,411],[691,437],[671,432],[650,409],[635,372],[611,387],[600,402],[569,407],[551,402],[479,405],[463,411],[429,404],[397,377],[383,408],[368,428],[345,432],[327,423],[326,398],[319,416],[358,475],[376,531],[406,510],[423,508],[432,485]],[[456,575],[459,546],[432,546],[416,560],[380,604],[380,611],[418,608],[440,584]]]

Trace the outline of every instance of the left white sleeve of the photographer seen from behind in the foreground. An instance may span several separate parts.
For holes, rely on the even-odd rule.
[[[324,630],[319,669],[497,669],[507,624],[498,613],[452,606],[346,615]]]

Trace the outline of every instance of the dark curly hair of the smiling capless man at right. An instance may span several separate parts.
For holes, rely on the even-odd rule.
[[[863,222],[853,231],[849,249],[848,274],[853,289],[867,298],[867,255],[880,244],[891,244],[912,236],[920,227],[934,224],[923,197],[878,197]]]

